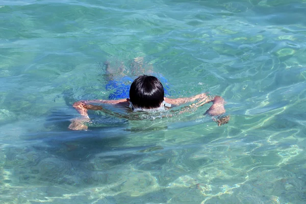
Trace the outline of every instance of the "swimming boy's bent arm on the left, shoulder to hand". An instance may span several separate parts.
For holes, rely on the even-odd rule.
[[[90,118],[88,116],[88,110],[102,110],[101,106],[90,105],[90,103],[101,103],[101,104],[113,104],[113,105],[123,105],[126,104],[129,99],[119,99],[119,100],[80,100],[75,102],[72,106],[77,110],[82,117],[73,118],[71,120],[68,128],[70,130],[87,130],[88,126],[84,122],[89,122]]]

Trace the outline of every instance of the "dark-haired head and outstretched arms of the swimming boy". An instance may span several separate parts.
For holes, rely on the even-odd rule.
[[[73,104],[73,107],[81,114],[81,118],[72,119],[69,129],[71,130],[87,130],[84,122],[90,121],[87,110],[104,110],[101,106],[90,105],[95,104],[112,104],[123,107],[129,107],[132,111],[164,111],[174,106],[190,103],[198,100],[197,103],[190,105],[190,108],[197,108],[206,103],[213,102],[213,105],[205,114],[212,116],[225,113],[224,100],[220,96],[214,98],[207,96],[205,93],[198,94],[186,98],[166,98],[164,97],[164,87],[162,83],[153,76],[141,75],[134,80],[130,87],[130,98],[116,100],[81,100]],[[185,110],[186,111],[186,110]],[[185,111],[181,111],[185,112]],[[223,117],[215,120],[218,126],[228,122],[229,117]]]

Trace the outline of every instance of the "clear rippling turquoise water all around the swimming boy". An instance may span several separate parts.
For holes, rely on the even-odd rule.
[[[2,203],[304,203],[305,1],[2,1]],[[142,56],[202,114],[67,130]],[[150,67],[148,65],[148,67]]]

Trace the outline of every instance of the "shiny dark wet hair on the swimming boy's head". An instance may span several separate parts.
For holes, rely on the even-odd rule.
[[[156,77],[142,75],[131,85],[130,100],[139,108],[159,108],[164,101],[164,87]]]

